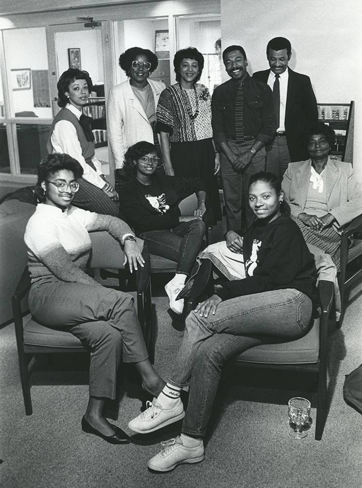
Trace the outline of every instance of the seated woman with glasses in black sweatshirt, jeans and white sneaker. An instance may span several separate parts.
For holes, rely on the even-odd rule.
[[[156,147],[149,142],[141,141],[128,149],[124,171],[130,179],[120,192],[120,208],[136,235],[147,241],[151,253],[177,261],[176,274],[165,291],[171,310],[181,314],[183,299],[176,298],[203,244],[206,193],[200,178],[156,173],[158,162]],[[198,208],[193,216],[181,216],[178,204],[193,193],[198,197]]]

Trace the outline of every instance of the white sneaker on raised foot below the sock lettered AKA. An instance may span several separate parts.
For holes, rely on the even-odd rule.
[[[166,425],[181,420],[185,416],[181,399],[170,409],[163,409],[154,398],[152,403],[146,402],[147,410],[141,412],[136,418],[131,420],[128,427],[139,434],[148,434],[161,429]]]

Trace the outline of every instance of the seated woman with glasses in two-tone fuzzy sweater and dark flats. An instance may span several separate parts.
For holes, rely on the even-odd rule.
[[[107,399],[115,398],[121,359],[135,365],[147,392],[159,392],[164,382],[148,359],[133,297],[101,286],[84,271],[92,231],[108,231],[124,246],[131,272],[143,267],[144,260],[125,222],[72,205],[82,175],[82,167],[68,154],[51,154],[38,168],[36,193],[41,203],[24,235],[31,276],[29,308],[38,322],[70,332],[91,351],[83,431],[125,444],[129,436],[104,413]]]

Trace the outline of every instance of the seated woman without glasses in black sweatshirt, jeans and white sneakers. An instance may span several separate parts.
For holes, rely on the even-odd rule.
[[[227,247],[243,252],[245,278],[226,281],[189,314],[166,386],[128,424],[135,432],[148,433],[184,417],[181,436],[163,442],[150,469],[170,471],[204,459],[203,437],[227,360],[250,347],[293,341],[308,331],[316,300],[314,256],[289,216],[273,173],[250,178],[249,205],[257,219],[244,239],[235,232],[226,235]],[[185,413],[180,391],[190,378]]]

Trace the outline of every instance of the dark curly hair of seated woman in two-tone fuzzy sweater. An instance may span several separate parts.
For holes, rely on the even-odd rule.
[[[35,195],[40,202],[45,201],[44,191],[42,189],[42,181],[47,181],[49,177],[54,176],[55,173],[62,170],[71,171],[74,178],[78,179],[83,176],[83,168],[80,163],[69,156],[69,154],[61,154],[55,152],[49,154],[46,159],[43,159],[38,166],[38,180],[35,185]]]

